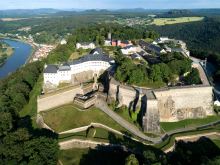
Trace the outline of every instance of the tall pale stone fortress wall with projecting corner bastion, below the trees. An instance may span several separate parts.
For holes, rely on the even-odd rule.
[[[119,105],[127,107],[137,102],[138,107],[144,108],[142,122],[144,131],[159,132],[160,122],[213,115],[212,90],[211,86],[204,85],[157,90],[135,89],[111,79],[109,97],[118,100]]]

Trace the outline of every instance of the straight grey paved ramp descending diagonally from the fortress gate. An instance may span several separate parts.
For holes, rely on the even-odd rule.
[[[133,124],[129,123],[125,119],[123,119],[121,116],[119,116],[117,113],[113,112],[105,101],[102,101],[99,99],[96,103],[96,107],[101,109],[104,113],[109,115],[113,120],[115,120],[118,124],[120,124],[122,127],[133,133],[134,135],[138,136],[139,138],[143,140],[147,140],[153,143],[160,143],[162,139],[159,138],[151,138],[149,136],[146,136],[143,132],[141,132],[137,127],[135,127]]]

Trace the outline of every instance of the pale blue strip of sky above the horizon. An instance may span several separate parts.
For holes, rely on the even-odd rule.
[[[220,0],[0,0],[0,9],[220,8]]]

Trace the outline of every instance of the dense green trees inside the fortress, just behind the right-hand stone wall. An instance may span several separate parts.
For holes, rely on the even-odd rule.
[[[197,69],[191,68],[192,61],[179,53],[170,53],[161,56],[161,63],[150,66],[136,65],[133,61],[121,54],[116,56],[117,69],[115,78],[120,82],[131,85],[148,87],[163,87],[176,85],[177,79],[183,77],[186,85],[200,84],[201,80]]]

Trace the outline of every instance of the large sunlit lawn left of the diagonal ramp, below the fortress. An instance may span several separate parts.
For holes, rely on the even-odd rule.
[[[79,111],[73,104],[64,105],[41,113],[45,123],[57,132],[87,126],[90,123],[101,123],[119,131],[125,131],[119,124],[97,108]]]

